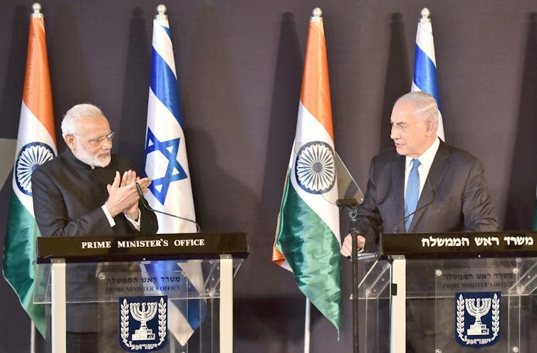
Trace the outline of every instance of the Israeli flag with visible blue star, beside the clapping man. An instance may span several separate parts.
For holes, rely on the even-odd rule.
[[[159,14],[153,20],[152,66],[145,137],[145,175],[150,177],[152,182],[150,192],[147,192],[145,197],[153,209],[195,221],[170,24],[165,15],[165,6],[160,5],[157,10]],[[163,214],[157,214],[157,218],[159,233],[197,231],[195,223],[192,222]],[[153,261],[145,265],[145,270],[147,273],[182,272],[189,279],[189,292],[204,292],[202,268],[197,260],[185,263]],[[183,346],[201,324],[207,305],[203,300],[193,301],[174,300],[168,308],[168,329]]]

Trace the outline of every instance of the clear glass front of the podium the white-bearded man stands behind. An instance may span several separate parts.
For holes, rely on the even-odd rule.
[[[51,266],[36,303],[51,303]],[[220,294],[220,260],[68,263],[67,331],[98,332],[100,353],[219,352]]]

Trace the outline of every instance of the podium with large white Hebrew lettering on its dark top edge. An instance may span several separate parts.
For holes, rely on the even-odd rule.
[[[534,351],[537,233],[382,234],[379,249],[358,259],[360,352]]]

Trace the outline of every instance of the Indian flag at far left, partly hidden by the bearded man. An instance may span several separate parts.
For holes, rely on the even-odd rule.
[[[4,277],[19,296],[21,305],[43,337],[46,331],[44,305],[33,305],[36,267],[36,237],[31,173],[56,156],[56,134],[52,110],[51,78],[45,40],[45,22],[34,4],[28,35],[26,77],[17,137],[13,192],[4,242]]]

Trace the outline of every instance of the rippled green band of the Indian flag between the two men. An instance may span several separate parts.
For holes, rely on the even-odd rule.
[[[343,311],[340,246],[326,223],[297,194],[289,174],[281,200],[276,248],[293,269],[298,288],[339,334]]]

